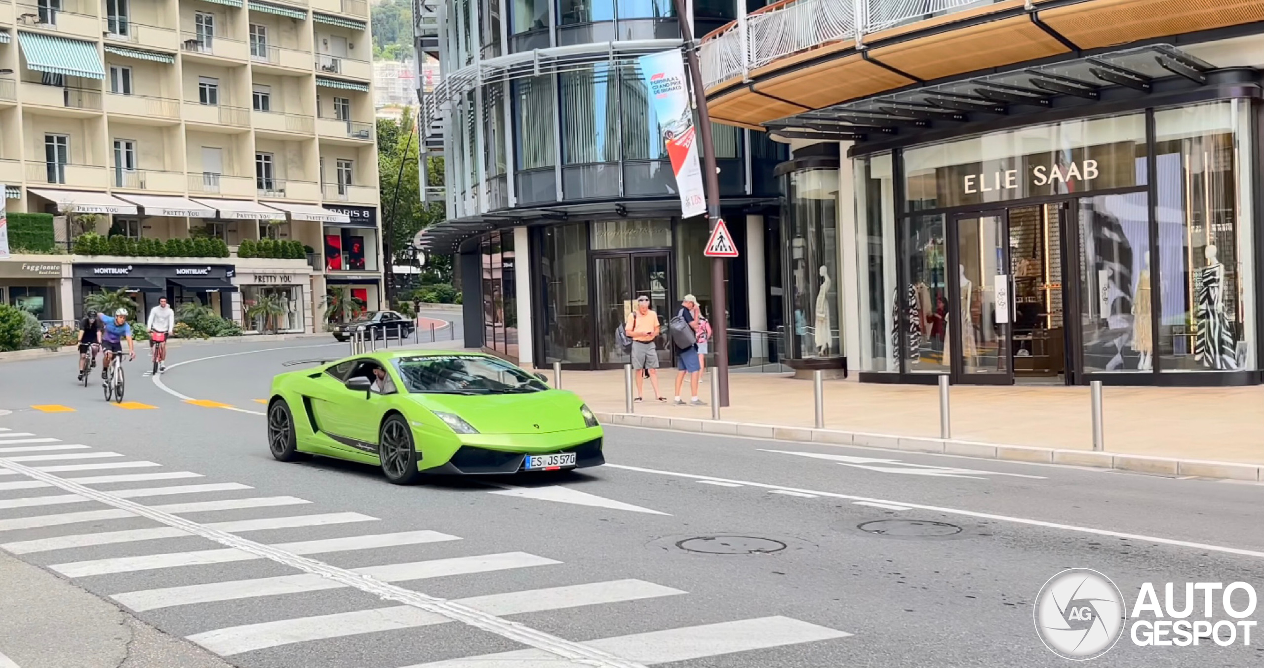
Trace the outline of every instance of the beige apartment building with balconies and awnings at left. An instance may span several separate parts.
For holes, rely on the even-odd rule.
[[[231,285],[164,284],[155,270],[142,297],[166,288],[241,318],[257,277],[303,304],[289,330],[319,331],[329,288],[369,308],[382,298],[372,88],[365,0],[0,0],[5,206],[97,213],[100,234],[222,239],[217,280]],[[58,221],[67,244],[73,234]],[[243,241],[268,237],[301,241],[307,259],[238,258]],[[72,265],[48,298],[63,318],[85,292],[118,283],[94,282],[111,275],[99,266],[178,264],[49,260]]]

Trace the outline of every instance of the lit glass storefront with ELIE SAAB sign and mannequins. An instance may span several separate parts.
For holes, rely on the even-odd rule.
[[[1256,369],[1250,117],[1220,101],[857,158],[862,371],[1083,384]]]

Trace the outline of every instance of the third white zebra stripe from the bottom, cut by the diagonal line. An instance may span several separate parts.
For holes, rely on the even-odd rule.
[[[507,571],[531,566],[550,566],[561,563],[526,552],[506,552],[501,554],[479,554],[477,557],[455,557],[450,559],[431,559],[423,562],[391,563],[353,568],[350,572],[372,577],[380,582],[407,582],[466,573],[485,573],[488,571]],[[206,604],[211,601],[239,601],[260,596],[279,596],[305,591],[336,590],[346,587],[344,582],[322,577],[316,573],[300,573],[279,577],[259,577],[206,585],[186,585],[159,590],[129,591],[111,596],[115,601],[143,612],[159,607]],[[449,601],[450,602],[450,601]]]

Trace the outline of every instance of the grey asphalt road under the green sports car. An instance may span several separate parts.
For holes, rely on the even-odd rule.
[[[130,409],[76,386],[67,357],[0,365],[0,457],[110,499],[0,475],[0,551],[252,668],[554,668],[585,648],[607,657],[595,665],[1069,665],[1033,625],[1064,568],[1107,575],[1126,601],[1143,582],[1160,604],[1165,582],[1264,583],[1259,485],[618,427],[608,466],[547,477],[397,487],[359,465],[274,461],[255,400],[282,362],[346,349],[173,349],[161,385],[129,366]],[[332,575],[185,533],[211,530]],[[349,585],[358,570],[439,607]],[[488,615],[454,621],[445,601]],[[39,668],[11,614],[0,654]],[[1093,664],[1261,662],[1254,635],[1143,648],[1125,633]]]

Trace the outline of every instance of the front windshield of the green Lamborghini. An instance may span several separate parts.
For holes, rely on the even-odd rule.
[[[396,370],[411,393],[526,394],[549,385],[497,357],[477,355],[426,355],[397,357]]]

